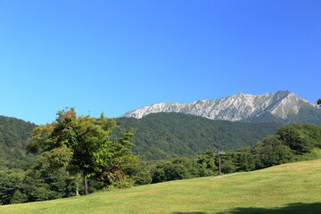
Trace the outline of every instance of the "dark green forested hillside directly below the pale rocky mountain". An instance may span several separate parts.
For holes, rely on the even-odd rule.
[[[144,160],[193,156],[205,150],[236,150],[276,133],[279,123],[231,122],[184,113],[155,113],[143,119],[118,118],[122,128],[134,128],[134,151]]]

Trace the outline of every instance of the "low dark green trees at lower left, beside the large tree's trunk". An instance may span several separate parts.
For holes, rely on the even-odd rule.
[[[76,195],[77,178],[61,169],[8,169],[0,173],[0,202],[2,204],[39,202]],[[78,189],[84,193],[83,188]]]

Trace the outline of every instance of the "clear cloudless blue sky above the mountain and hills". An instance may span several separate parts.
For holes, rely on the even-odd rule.
[[[289,90],[321,97],[321,1],[0,0],[0,114]]]

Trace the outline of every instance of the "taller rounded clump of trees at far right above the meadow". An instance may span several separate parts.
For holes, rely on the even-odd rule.
[[[292,124],[279,128],[276,135],[255,144],[256,169],[290,161],[305,160],[313,149],[321,148],[321,127],[313,124]]]

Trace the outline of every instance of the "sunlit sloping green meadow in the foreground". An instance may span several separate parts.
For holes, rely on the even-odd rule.
[[[143,185],[47,202],[0,206],[0,213],[321,213],[321,160],[213,179]]]

